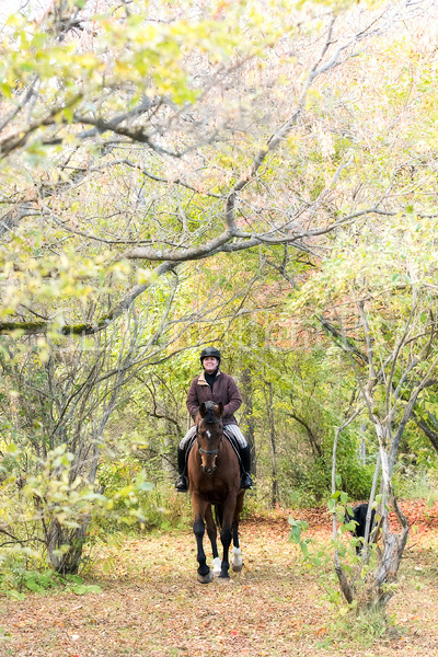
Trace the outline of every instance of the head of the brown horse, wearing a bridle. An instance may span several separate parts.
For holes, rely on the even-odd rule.
[[[196,422],[200,466],[207,474],[216,470],[216,459],[222,440],[223,404],[201,403]]]

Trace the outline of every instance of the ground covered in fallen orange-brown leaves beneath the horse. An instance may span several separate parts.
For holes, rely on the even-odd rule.
[[[279,510],[242,522],[244,568],[230,583],[197,583],[189,530],[94,546],[85,584],[102,592],[0,599],[0,655],[437,657],[438,504],[402,508],[410,540],[388,607],[393,624],[381,637],[372,638],[372,620],[328,601],[327,590],[337,588],[333,568],[303,566],[289,541],[290,514]],[[307,535],[330,541],[330,517],[321,509],[292,515],[309,522]]]

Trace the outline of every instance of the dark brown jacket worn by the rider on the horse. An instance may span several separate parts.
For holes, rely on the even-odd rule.
[[[195,419],[196,414],[199,410],[199,405],[203,402],[222,402],[224,406],[223,424],[238,424],[234,417],[235,411],[242,403],[242,397],[239,392],[239,388],[235,381],[230,374],[224,374],[220,370],[216,374],[215,383],[211,388],[208,385],[204,371],[199,377],[195,377],[191,383],[191,388],[187,393],[187,408],[188,413]]]

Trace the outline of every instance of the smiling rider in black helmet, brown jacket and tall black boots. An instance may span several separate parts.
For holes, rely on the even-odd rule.
[[[235,381],[230,374],[220,371],[220,353],[216,347],[206,347],[200,353],[200,362],[203,372],[192,381],[187,393],[187,408],[193,420],[204,402],[215,402],[223,404],[223,433],[233,440],[239,447],[242,464],[242,488],[252,488],[251,479],[251,451],[242,431],[239,428],[238,420],[234,417],[235,411],[242,404],[242,397]],[[176,491],[185,493],[188,489],[187,469],[186,469],[186,448],[192,443],[195,437],[196,426],[191,427],[187,434],[180,442],[177,450],[178,479],[175,484]]]

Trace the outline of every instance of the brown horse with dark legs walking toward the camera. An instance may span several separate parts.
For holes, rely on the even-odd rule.
[[[228,561],[231,539],[233,540],[232,569],[242,569],[239,548],[239,516],[243,507],[245,492],[240,487],[239,459],[222,433],[223,404],[201,403],[196,417],[196,439],[188,454],[187,472],[192,504],[195,516],[193,531],[197,543],[198,580],[211,581],[214,574],[229,579]],[[216,519],[220,526],[220,540],[223,546],[222,562],[217,548],[217,528],[211,505],[216,507]],[[206,563],[203,546],[205,533],[211,542],[214,572]]]

